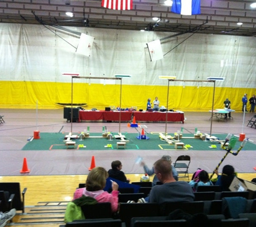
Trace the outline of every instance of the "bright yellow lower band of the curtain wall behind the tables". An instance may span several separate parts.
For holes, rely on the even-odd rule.
[[[72,83],[0,81],[0,108],[61,108],[57,103],[72,102]],[[86,109],[104,109],[120,105],[121,108],[137,107],[146,109],[148,98],[151,102],[158,97],[160,105],[167,107],[168,86],[134,86],[116,84],[73,83],[73,104],[87,103]],[[253,89],[215,88],[215,109],[224,107],[224,100],[231,100],[231,109],[241,111],[241,98],[247,93],[248,99]],[[241,94],[240,96],[237,94]],[[212,107],[213,83],[207,87],[174,86],[170,83],[168,109],[181,111],[208,111]]]

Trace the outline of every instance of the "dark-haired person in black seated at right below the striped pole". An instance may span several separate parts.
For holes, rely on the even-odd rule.
[[[218,170],[215,171],[218,176],[218,180],[215,185],[219,185],[222,191],[230,191],[229,187],[236,176],[234,167],[231,165],[225,165],[222,169],[222,175],[219,175]]]

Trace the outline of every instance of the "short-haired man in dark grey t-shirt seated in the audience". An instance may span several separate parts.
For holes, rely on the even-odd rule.
[[[154,186],[149,194],[149,202],[192,202],[195,199],[188,182],[176,181],[172,175],[170,161],[159,159],[154,164],[154,172],[163,185]]]

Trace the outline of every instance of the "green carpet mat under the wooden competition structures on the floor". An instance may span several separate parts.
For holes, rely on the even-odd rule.
[[[75,134],[75,133],[74,133]],[[84,140],[72,139],[75,141],[75,146],[66,146],[64,143],[65,134],[63,133],[46,133],[40,132],[40,139],[33,139],[28,141],[27,144],[22,148],[23,151],[43,151],[43,150],[66,150],[66,149],[79,149],[79,150],[111,150],[117,149],[116,143],[120,141],[115,139],[114,136],[117,133],[113,134],[113,140],[110,141],[107,138],[85,138]],[[126,144],[126,150],[176,150],[174,144],[169,145],[165,141],[161,141],[158,134],[148,133],[147,137],[149,139],[137,139],[137,133],[122,133],[126,139],[129,140],[129,143]],[[170,134],[174,136],[174,134]],[[101,133],[90,133],[90,136],[102,136]],[[220,140],[226,138],[226,134],[214,134]],[[180,142],[184,145],[190,145],[189,148],[184,148],[184,150],[194,150],[194,151],[212,151],[220,150],[220,144],[216,142],[211,142],[209,140],[203,141],[201,139],[193,138],[193,134],[183,134],[183,137],[192,137],[192,138],[182,138]],[[108,144],[111,144],[112,147],[105,147]],[[233,151],[236,152],[240,146],[241,142],[237,138],[236,146],[233,148]],[[84,145],[84,147],[79,147],[79,145]],[[216,148],[210,148],[211,145],[216,145]],[[86,146],[86,147],[85,147]],[[123,148],[120,148],[120,150]],[[179,148],[181,150],[181,148]],[[250,142],[247,142],[244,151],[256,150],[256,145]]]

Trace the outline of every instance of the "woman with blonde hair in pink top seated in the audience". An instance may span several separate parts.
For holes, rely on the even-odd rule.
[[[89,172],[85,188],[78,188],[75,190],[73,200],[80,198],[82,195],[95,198],[99,203],[110,202],[113,212],[118,209],[118,188],[119,186],[115,181],[112,182],[112,193],[104,191],[108,172],[103,167],[95,167]]]

